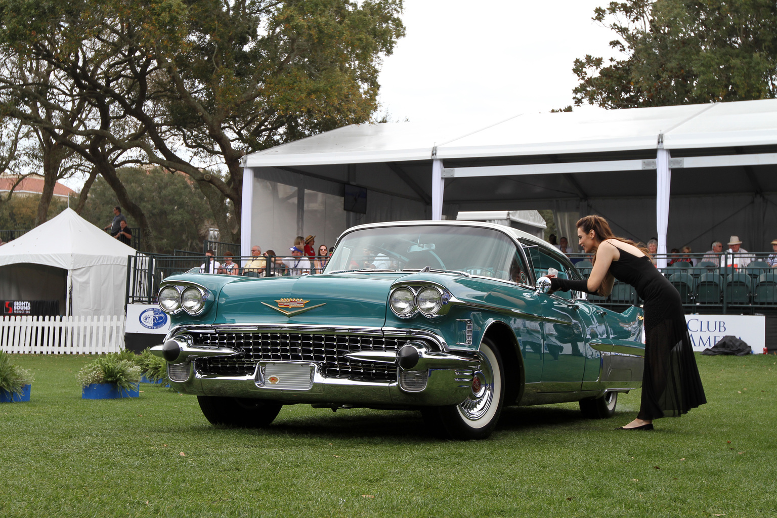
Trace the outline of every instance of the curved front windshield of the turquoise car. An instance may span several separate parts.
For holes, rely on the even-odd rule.
[[[357,269],[453,270],[517,280],[514,242],[491,228],[443,225],[364,228],[338,243],[324,273]],[[525,276],[524,276],[525,280]]]

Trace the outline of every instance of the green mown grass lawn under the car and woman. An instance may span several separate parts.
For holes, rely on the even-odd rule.
[[[419,412],[287,406],[211,426],[197,398],[81,399],[87,356],[22,356],[32,401],[0,405],[0,516],[777,516],[777,356],[699,356],[708,404],[653,432],[577,404],[507,408],[489,440]]]

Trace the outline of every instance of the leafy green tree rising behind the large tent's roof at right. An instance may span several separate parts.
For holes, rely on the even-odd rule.
[[[777,2],[626,0],[594,11],[621,57],[574,62],[576,105],[667,106],[777,96]]]

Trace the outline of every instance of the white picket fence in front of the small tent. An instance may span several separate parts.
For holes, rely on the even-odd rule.
[[[100,354],[124,349],[124,315],[2,317],[0,349],[20,354]]]

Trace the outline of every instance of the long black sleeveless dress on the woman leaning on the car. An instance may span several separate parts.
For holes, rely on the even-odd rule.
[[[645,371],[638,419],[678,417],[707,402],[678,290],[647,256],[620,247],[610,273],[645,301]]]

